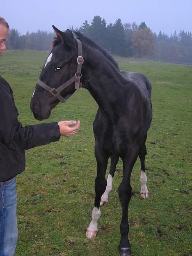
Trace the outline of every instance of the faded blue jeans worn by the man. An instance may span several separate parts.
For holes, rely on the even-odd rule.
[[[0,182],[0,256],[14,256],[17,231],[16,178]]]

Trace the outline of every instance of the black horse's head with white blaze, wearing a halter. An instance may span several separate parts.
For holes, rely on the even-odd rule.
[[[47,119],[59,101],[66,101],[78,89],[83,58],[78,57],[78,39],[71,30],[62,32],[53,26],[57,37],[45,61],[31,98],[31,110],[38,120]],[[78,59],[77,59],[78,57]],[[67,85],[66,85],[67,83]],[[62,85],[62,86],[61,86]],[[62,87],[62,88],[61,88]]]

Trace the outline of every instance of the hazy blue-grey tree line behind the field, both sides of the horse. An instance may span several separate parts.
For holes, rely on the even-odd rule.
[[[150,57],[153,59],[192,63],[192,33],[176,31],[169,37],[161,31],[156,34],[142,22],[122,24],[118,18],[107,25],[105,18],[94,16],[91,23],[85,21],[79,30],[107,51],[123,57]],[[37,30],[25,35],[11,29],[7,37],[7,49],[50,50],[54,33]]]

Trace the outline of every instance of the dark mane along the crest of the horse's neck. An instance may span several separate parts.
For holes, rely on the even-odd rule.
[[[105,56],[105,58],[107,58],[115,66],[115,68],[119,70],[119,66],[117,62],[104,48],[99,46],[97,43],[95,43],[91,39],[85,37],[83,34],[80,33],[79,30],[75,30],[74,33],[78,37],[78,39],[80,39],[80,41],[82,41],[83,43],[86,43],[88,46],[95,48],[96,50],[99,50]]]

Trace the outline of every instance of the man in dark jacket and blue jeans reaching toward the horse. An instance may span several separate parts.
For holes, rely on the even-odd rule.
[[[0,55],[6,49],[9,25],[0,17]],[[56,142],[60,136],[75,135],[80,121],[41,123],[23,127],[13,91],[0,76],[0,256],[14,256],[18,230],[16,176],[25,169],[25,150]]]

